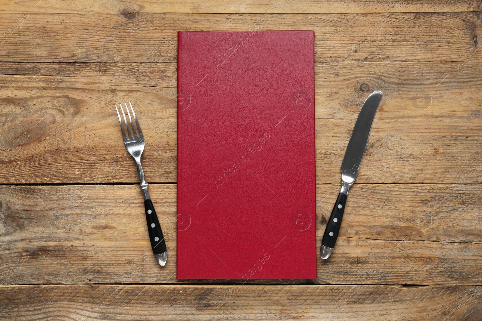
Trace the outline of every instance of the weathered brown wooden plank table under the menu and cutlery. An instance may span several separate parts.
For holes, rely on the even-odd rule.
[[[1,320],[482,320],[479,0],[0,0]],[[382,90],[316,280],[178,281],[177,30],[315,30],[318,246],[361,103]],[[114,102],[142,119],[169,249],[147,239]]]

